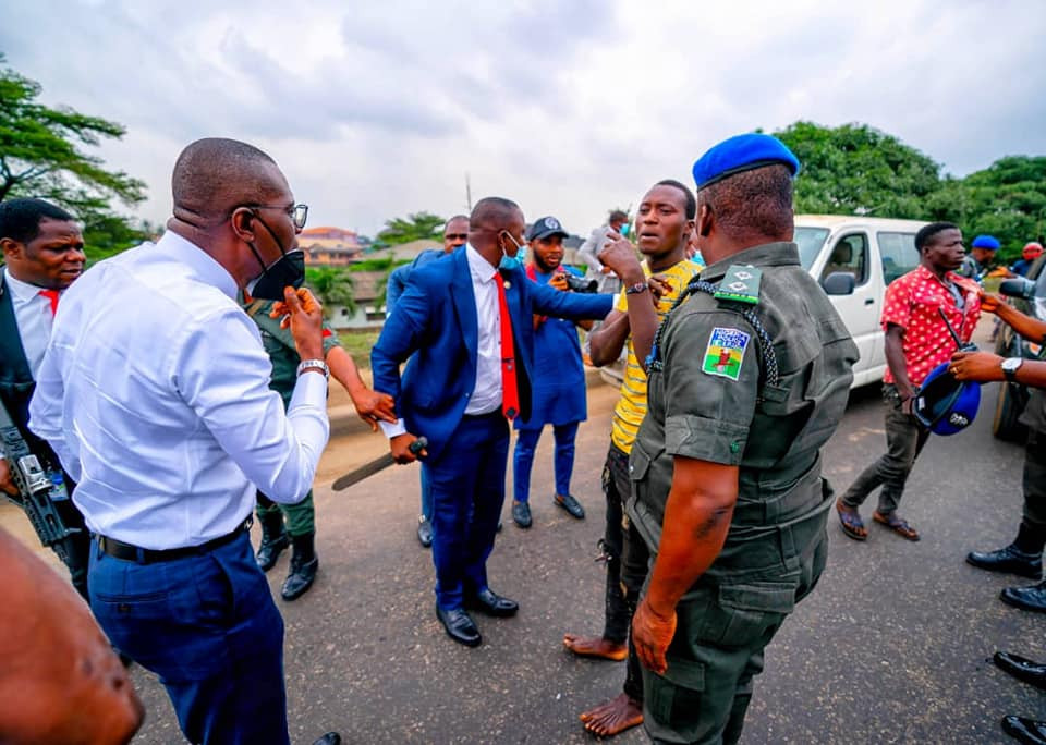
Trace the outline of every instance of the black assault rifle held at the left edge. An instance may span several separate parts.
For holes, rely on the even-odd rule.
[[[54,499],[69,499],[61,471],[47,469],[29,451],[22,432],[15,427],[8,407],[0,401],[0,456],[8,462],[17,497],[3,496],[25,511],[44,546],[53,549],[63,564],[69,563],[69,547],[65,539],[78,529],[65,527],[54,509]]]

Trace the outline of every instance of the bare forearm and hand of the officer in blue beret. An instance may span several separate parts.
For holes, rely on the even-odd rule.
[[[632,620],[635,651],[658,674],[668,669],[676,604],[722,550],[737,500],[738,466],[676,456],[657,560]]]

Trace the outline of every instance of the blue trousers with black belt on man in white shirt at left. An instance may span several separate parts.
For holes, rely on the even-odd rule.
[[[190,743],[290,742],[283,619],[246,530],[155,564],[114,559],[96,544],[88,588],[110,642],[159,675]]]

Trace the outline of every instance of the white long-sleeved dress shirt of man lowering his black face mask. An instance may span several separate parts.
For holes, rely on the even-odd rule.
[[[312,487],[327,444],[327,383],[305,373],[287,414],[236,284],[168,231],[101,261],[65,292],[29,428],[78,483],[88,527],[147,549],[198,546]]]

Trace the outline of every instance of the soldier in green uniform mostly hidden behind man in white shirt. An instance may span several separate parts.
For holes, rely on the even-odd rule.
[[[294,346],[294,338],[280,319],[272,318],[272,301],[244,300],[243,309],[258,326],[262,343],[272,362],[272,377],[269,388],[283,399],[283,407],[290,405],[294,382],[297,379],[297,366],[302,362]],[[330,375],[338,380],[356,407],[356,413],[370,428],[377,431],[378,419],[396,423],[392,398],[377,393],[360,379],[360,373],[352,357],[345,352],[338,334],[327,321],[324,321],[324,357],[330,368]],[[316,555],[316,509],[313,506],[313,492],[309,490],[301,502],[278,504],[258,492],[258,522],[262,523],[262,544],[258,546],[257,561],[262,571],[268,572],[276,565],[280,553],[293,546],[291,569],[283,582],[280,595],[284,600],[296,600],[313,586],[319,557]],[[287,525],[284,526],[284,517]]]

